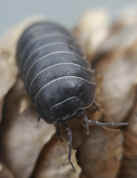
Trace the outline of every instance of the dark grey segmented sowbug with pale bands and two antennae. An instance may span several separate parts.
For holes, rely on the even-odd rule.
[[[66,121],[84,113],[93,104],[93,70],[74,38],[61,25],[40,21],[27,27],[18,41],[16,57],[25,88],[46,122],[66,125]],[[88,123],[113,124],[91,123],[83,116],[87,128]],[[67,126],[66,130],[71,163],[72,133]]]

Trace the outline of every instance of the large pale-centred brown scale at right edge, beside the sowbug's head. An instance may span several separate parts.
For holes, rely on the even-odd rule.
[[[96,62],[96,99],[105,121],[122,121],[131,112],[136,98],[136,41],[125,50],[105,53]]]

